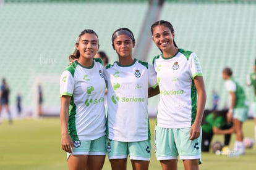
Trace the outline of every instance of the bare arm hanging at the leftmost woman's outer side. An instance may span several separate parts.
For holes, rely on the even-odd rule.
[[[69,136],[68,131],[68,121],[69,121],[69,104],[71,97],[68,95],[63,95],[61,97],[61,111],[60,111],[60,119],[61,119],[61,145],[62,150],[72,153],[73,143]]]

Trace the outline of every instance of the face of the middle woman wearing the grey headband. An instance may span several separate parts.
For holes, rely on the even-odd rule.
[[[132,58],[132,48],[134,47],[132,39],[126,34],[121,34],[114,39],[113,47],[119,57]]]

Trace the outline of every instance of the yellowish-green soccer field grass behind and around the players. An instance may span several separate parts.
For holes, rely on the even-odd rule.
[[[150,119],[151,134],[155,119]],[[254,122],[244,124],[245,137],[254,137]],[[61,126],[58,118],[22,119],[13,124],[4,121],[0,124],[0,169],[67,169],[66,153],[61,150]],[[235,136],[231,139],[233,148]],[[213,141],[223,140],[223,136],[215,136]],[[200,169],[255,169],[256,148],[246,150],[246,154],[238,158],[230,158],[214,153],[202,153]],[[182,161],[179,169],[184,169]],[[103,169],[111,169],[108,158]],[[132,169],[128,161],[127,169]],[[152,149],[149,169],[161,169]]]

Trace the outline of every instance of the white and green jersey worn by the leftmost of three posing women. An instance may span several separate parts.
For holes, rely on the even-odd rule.
[[[103,62],[92,67],[72,63],[61,75],[60,96],[69,95],[69,135],[72,140],[94,140],[106,134]]]

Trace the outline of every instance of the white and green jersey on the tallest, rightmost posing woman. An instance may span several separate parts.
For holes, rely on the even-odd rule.
[[[179,49],[173,57],[163,54],[153,59],[160,88],[157,126],[164,128],[191,127],[197,114],[195,76],[202,76],[202,68],[194,52]]]

